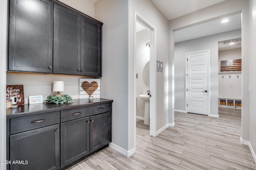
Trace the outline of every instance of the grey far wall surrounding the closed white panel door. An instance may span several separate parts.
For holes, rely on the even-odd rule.
[[[175,109],[186,110],[186,53],[210,49],[210,115],[218,115],[218,41],[241,36],[241,29],[174,45]]]

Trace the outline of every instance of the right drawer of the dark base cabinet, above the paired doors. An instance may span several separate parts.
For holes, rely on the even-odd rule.
[[[63,110],[60,111],[60,122],[80,119],[108,111],[110,111],[110,103]]]

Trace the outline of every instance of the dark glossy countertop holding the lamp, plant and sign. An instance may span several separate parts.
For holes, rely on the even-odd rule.
[[[74,99],[74,102],[66,103],[66,104],[48,104],[48,103],[40,103],[40,104],[24,104],[20,105],[16,108],[6,109],[6,119],[23,117],[28,115],[36,115],[41,113],[48,113],[52,111],[61,111],[66,109],[74,109],[78,107],[92,106],[97,104],[105,104],[113,102],[113,100],[95,98],[92,101],[89,99]]]

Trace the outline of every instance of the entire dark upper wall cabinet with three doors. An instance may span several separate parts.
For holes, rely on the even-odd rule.
[[[10,0],[8,71],[102,76],[103,23],[52,1]]]

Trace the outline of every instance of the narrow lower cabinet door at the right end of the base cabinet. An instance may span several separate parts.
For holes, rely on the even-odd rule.
[[[90,152],[94,152],[111,142],[111,113],[91,116],[90,122]]]

